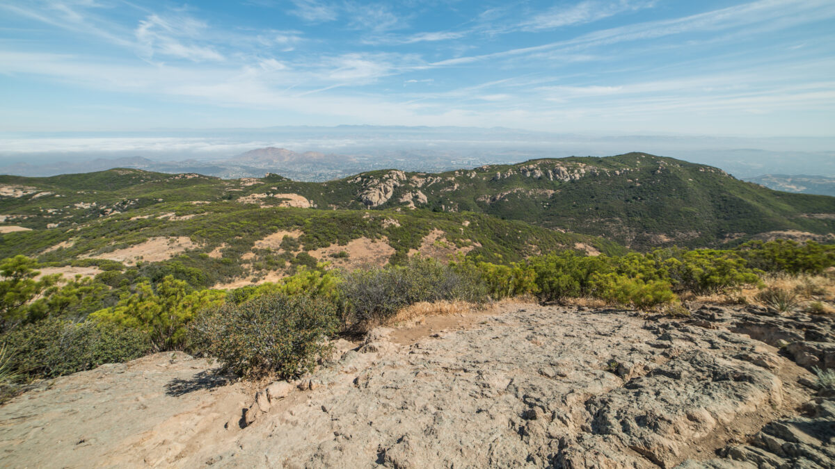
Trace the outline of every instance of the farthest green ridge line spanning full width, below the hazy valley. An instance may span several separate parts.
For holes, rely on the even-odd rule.
[[[320,210],[471,212],[602,236],[636,250],[732,246],[787,233],[826,241],[835,232],[832,197],[782,193],[711,166],[640,153],[535,159],[438,174],[377,170],[324,183],[276,174],[224,180],[112,169],[49,178],[3,176],[0,184],[5,195],[0,213],[8,214],[7,223],[33,229],[68,228],[137,209],[165,210],[159,214],[174,209],[181,216],[193,210],[171,204],[229,201]]]

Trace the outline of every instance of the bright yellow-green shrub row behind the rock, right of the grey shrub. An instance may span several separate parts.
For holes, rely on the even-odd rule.
[[[735,252],[722,250],[670,249],[612,257],[564,251],[522,264],[458,259],[453,265],[473,273],[493,298],[534,294],[551,302],[586,297],[640,309],[671,304],[684,292],[701,295],[760,285],[762,273]]]

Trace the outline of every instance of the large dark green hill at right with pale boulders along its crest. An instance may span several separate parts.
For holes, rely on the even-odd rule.
[[[639,250],[674,244],[734,245],[771,231],[835,231],[832,197],[777,192],[721,169],[647,154],[538,159],[403,176],[377,171],[326,187],[334,187],[335,193],[353,189],[351,198],[336,198],[340,207],[364,202],[386,209],[411,201],[433,210],[468,210],[605,236]],[[284,187],[302,194],[309,190],[289,182]],[[388,187],[390,197],[382,203],[373,200]],[[325,197],[319,203],[334,201]]]

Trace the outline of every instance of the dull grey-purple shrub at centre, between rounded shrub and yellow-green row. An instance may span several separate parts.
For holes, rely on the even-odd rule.
[[[483,302],[488,293],[473,275],[456,272],[437,260],[412,258],[406,265],[355,270],[340,284],[346,324],[365,326],[391,318],[419,301]]]

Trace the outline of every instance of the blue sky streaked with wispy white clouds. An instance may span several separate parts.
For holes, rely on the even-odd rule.
[[[0,130],[835,136],[835,2],[0,3]]]

